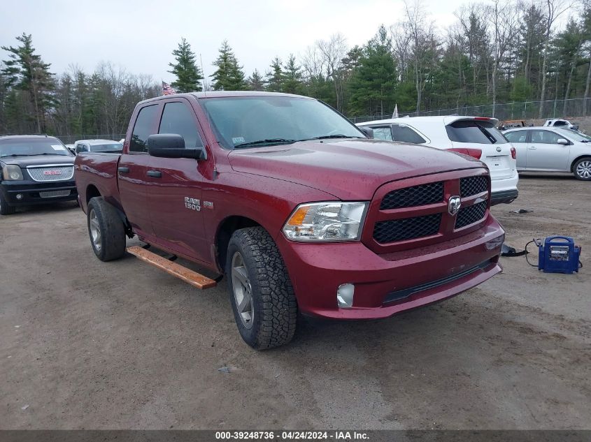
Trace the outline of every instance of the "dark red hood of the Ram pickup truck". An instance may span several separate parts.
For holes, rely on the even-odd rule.
[[[236,172],[304,184],[341,200],[371,200],[379,186],[397,179],[486,167],[433,147],[361,139],[237,149],[229,161]]]

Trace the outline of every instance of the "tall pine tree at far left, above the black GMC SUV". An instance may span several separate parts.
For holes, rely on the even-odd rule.
[[[9,52],[8,60],[4,60],[5,67],[1,73],[6,78],[9,88],[22,91],[28,98],[36,131],[45,132],[45,116],[57,102],[52,96],[55,89],[53,74],[50,73],[48,63],[43,63],[41,55],[35,53],[31,34],[22,33],[16,38],[21,45],[17,47],[2,46]],[[35,130],[35,129],[33,129]]]

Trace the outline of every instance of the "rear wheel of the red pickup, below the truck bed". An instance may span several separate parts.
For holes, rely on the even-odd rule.
[[[125,230],[115,207],[103,197],[91,198],[86,218],[90,244],[97,258],[101,261],[121,258],[125,253]]]

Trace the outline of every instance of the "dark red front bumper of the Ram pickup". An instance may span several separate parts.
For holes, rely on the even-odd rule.
[[[468,290],[501,272],[504,230],[489,216],[462,237],[378,255],[361,242],[304,244],[278,235],[303,314],[339,319],[386,318]],[[353,283],[353,307],[337,307],[336,290]]]

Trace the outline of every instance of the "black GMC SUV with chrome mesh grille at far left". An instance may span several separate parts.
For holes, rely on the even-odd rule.
[[[0,137],[0,214],[13,214],[17,206],[76,200],[74,158],[54,137]]]

